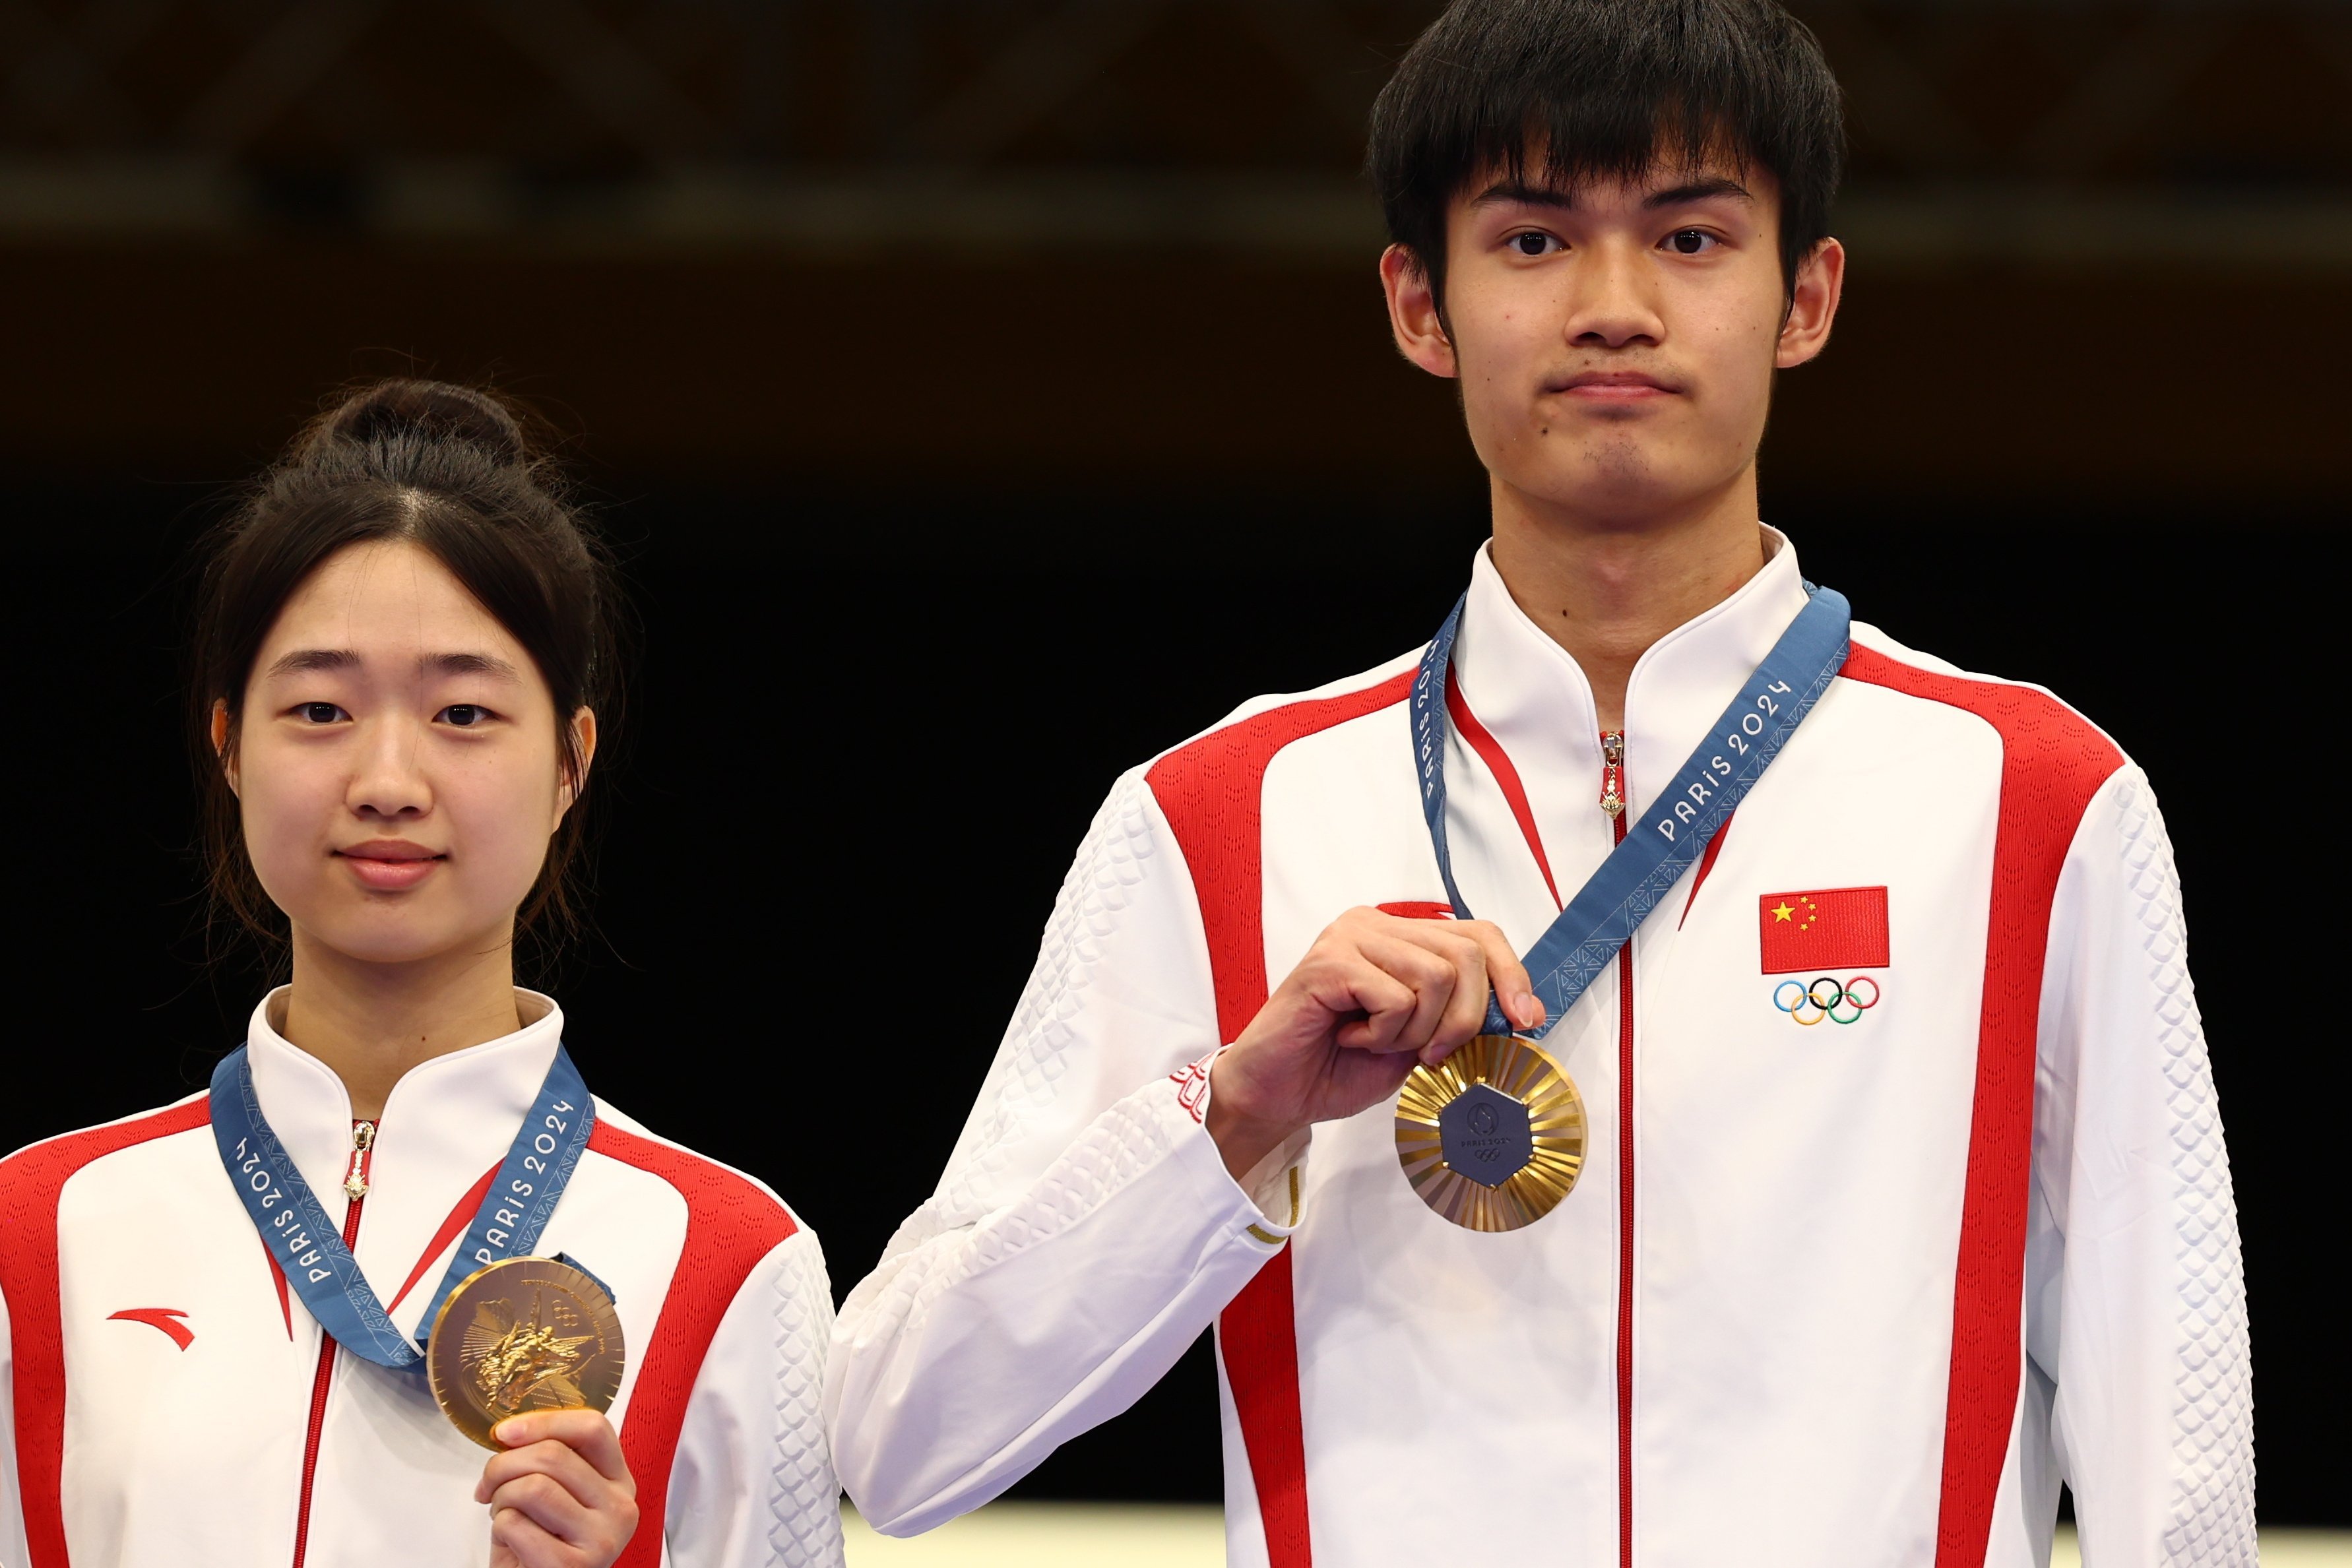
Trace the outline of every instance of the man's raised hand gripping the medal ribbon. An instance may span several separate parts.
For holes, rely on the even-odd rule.
[[[1310,1121],[1397,1093],[1486,1023],[1486,992],[1517,1027],[1543,1023],[1519,954],[1484,919],[1341,914],[1209,1070],[1209,1135],[1242,1180]]]

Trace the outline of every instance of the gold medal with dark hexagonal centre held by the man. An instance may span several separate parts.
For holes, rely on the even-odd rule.
[[[1531,1039],[1479,1034],[1397,1095],[1397,1164],[1463,1229],[1519,1229],[1585,1166],[1585,1100]]]

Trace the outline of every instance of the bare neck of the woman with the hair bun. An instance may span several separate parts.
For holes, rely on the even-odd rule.
[[[374,1121],[409,1067],[522,1027],[515,950],[369,964],[296,929],[294,985],[270,1025],[343,1079],[353,1117]]]

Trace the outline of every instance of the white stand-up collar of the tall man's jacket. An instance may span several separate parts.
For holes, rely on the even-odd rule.
[[[1762,524],[1759,524],[1762,527]],[[1625,790],[1630,811],[1649,804],[1710,731],[1724,705],[1806,604],[1797,550],[1764,529],[1769,559],[1738,592],[1661,637],[1625,686]],[[1503,574],[1479,545],[1470,567],[1470,602],[1454,649],[1470,712],[1494,731],[1552,842],[1552,820],[1595,813],[1602,778],[1599,717],[1592,684],[1510,597]],[[1573,816],[1564,816],[1573,813]],[[1555,860],[1559,851],[1552,851]],[[1562,898],[1590,872],[1562,872]]]

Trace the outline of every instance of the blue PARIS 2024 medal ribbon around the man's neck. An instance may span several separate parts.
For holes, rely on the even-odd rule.
[[[1543,997],[1543,1039],[1595,976],[1609,969],[1635,926],[1658,907],[1665,891],[1705,851],[1797,724],[1813,710],[1830,677],[1846,663],[1853,607],[1835,588],[1804,585],[1809,599],[1740,693],[1724,708],[1708,738],[1689,755],[1675,780],[1649,804],[1644,820],[1609,851],[1592,879],[1559,912],[1526,952],[1526,973]],[[1454,914],[1470,919],[1470,905],[1454,884],[1446,851],[1446,665],[1461,632],[1463,595],[1437,628],[1414,675],[1414,762],[1421,769],[1421,816],[1430,825],[1437,875],[1446,882]],[[1486,997],[1486,1034],[1519,1034],[1503,1006]]]

